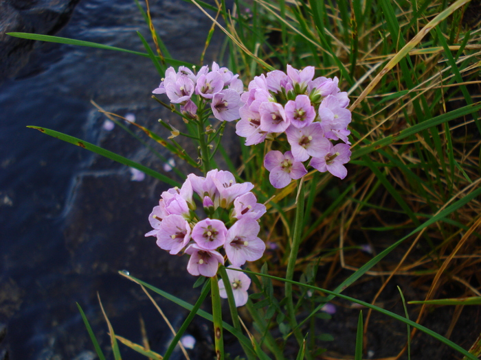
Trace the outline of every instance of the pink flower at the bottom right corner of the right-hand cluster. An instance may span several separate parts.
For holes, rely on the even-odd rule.
[[[329,141],[329,144],[331,144],[331,141]],[[350,160],[350,154],[349,145],[337,144],[333,146],[331,144],[328,153],[320,158],[312,158],[310,165],[322,173],[329,171],[333,176],[344,179],[348,174],[344,164]]]

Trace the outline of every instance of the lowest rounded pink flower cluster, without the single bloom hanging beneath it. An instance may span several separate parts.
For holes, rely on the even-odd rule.
[[[222,253],[234,267],[258,260],[265,243],[257,236],[257,220],[266,208],[250,192],[253,187],[250,182],[236,183],[229,171],[214,169],[205,178],[191,173],[180,189],[161,194],[148,217],[153,230],[145,236],[157,237],[159,248],[170,254],[189,254],[187,270],[194,276],[215,276],[225,262]],[[227,224],[232,225],[227,228],[221,219],[199,219],[194,192],[201,197],[205,213],[214,214],[221,207],[230,214]]]

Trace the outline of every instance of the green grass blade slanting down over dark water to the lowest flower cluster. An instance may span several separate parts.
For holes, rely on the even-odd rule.
[[[177,181],[172,180],[167,176],[162,175],[161,173],[158,173],[157,171],[149,169],[148,167],[144,165],[140,165],[139,163],[135,163],[135,161],[129,160],[128,158],[124,158],[124,156],[120,156],[118,154],[115,154],[114,152],[109,152],[109,150],[103,149],[102,147],[93,145],[91,143],[87,143],[87,141],[83,141],[74,136],[66,135],[66,134],[63,134],[62,132],[57,132],[55,130],[50,130],[47,128],[41,128],[40,126],[27,126],[27,128],[36,129],[40,132],[43,132],[44,134],[47,134],[49,136],[54,136],[54,138],[66,141],[67,143],[71,143],[71,144],[83,147],[84,149],[87,149],[91,152],[95,152],[96,154],[99,154],[111,160],[117,161],[118,163],[121,163],[123,165],[134,167],[135,169],[140,170],[146,173],[147,175],[152,176],[153,178],[166,182],[167,184],[172,185],[173,187],[180,186],[180,184]]]

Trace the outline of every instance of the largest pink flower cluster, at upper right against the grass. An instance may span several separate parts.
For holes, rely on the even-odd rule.
[[[347,129],[351,120],[347,93],[341,92],[337,77],[314,78],[314,67],[302,71],[287,65],[287,73],[275,70],[254,77],[240,96],[240,121],[236,134],[245,145],[273,140],[285,134],[291,149],[266,154],[264,165],[273,187],[286,187],[291,179],[307,173],[304,162],[318,171],[345,178],[344,164],[350,160]],[[341,141],[333,145],[331,141]]]

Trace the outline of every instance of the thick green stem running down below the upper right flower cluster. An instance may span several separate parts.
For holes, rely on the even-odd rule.
[[[301,232],[303,228],[304,218],[304,179],[298,180],[298,204],[295,208],[295,223],[292,237],[291,253],[289,254],[289,262],[287,263],[286,279],[293,280],[295,261],[298,259],[299,245],[301,242]],[[294,302],[292,298],[292,284],[285,283],[285,293],[287,298],[287,313],[289,317],[289,325],[293,328],[295,339],[297,339],[299,346],[303,346],[304,337],[298,328],[298,322],[295,320]],[[305,356],[311,359],[309,351],[306,351]]]

